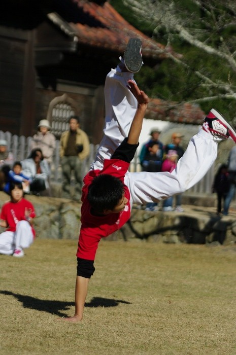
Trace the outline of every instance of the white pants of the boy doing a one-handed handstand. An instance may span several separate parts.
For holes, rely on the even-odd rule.
[[[104,137],[91,169],[102,169],[124,137],[137,110],[137,100],[127,88],[131,73],[112,69],[105,82],[106,120]],[[127,185],[132,203],[158,202],[191,188],[207,173],[217,156],[217,142],[211,133],[200,129],[188,144],[176,169],[170,172],[127,172]]]

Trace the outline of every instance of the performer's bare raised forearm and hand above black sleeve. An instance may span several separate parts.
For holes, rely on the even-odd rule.
[[[133,121],[131,123],[127,143],[138,144],[149,98],[145,94],[145,92],[140,90],[138,85],[132,80],[128,80],[128,88],[131,91],[131,93],[137,98],[138,108],[136,114],[134,115]]]

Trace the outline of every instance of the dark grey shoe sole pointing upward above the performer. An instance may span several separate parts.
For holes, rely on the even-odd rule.
[[[124,65],[131,73],[138,73],[143,64],[141,46],[142,41],[139,38],[130,38],[125,49]]]

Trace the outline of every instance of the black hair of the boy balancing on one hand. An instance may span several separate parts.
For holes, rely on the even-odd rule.
[[[113,209],[121,200],[124,185],[118,177],[100,174],[94,177],[88,189],[88,202],[95,212],[102,214],[105,209]]]

